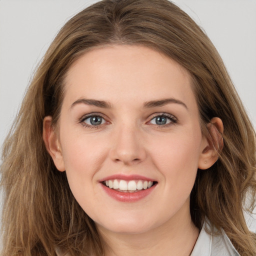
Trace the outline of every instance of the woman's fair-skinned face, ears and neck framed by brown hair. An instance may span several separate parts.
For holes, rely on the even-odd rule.
[[[147,47],[108,45],[82,55],[64,86],[57,128],[45,117],[43,139],[106,255],[189,255],[198,236],[189,194],[197,168],[217,155],[201,133],[188,72]],[[211,122],[223,131],[219,118]],[[114,179],[153,183],[129,196],[106,186]]]

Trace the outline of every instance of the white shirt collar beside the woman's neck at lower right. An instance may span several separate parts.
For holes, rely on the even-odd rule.
[[[239,256],[224,230],[217,231],[204,221],[191,256]],[[211,233],[206,231],[211,230]],[[217,232],[217,234],[215,234]]]

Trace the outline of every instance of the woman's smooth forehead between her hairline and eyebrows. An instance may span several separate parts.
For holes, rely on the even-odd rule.
[[[165,55],[139,45],[97,47],[79,57],[67,71],[65,98],[153,100],[178,97],[194,101],[191,77]]]

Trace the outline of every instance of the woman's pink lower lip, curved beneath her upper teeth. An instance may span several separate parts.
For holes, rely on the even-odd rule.
[[[148,194],[150,194],[155,188],[155,185],[153,185],[150,188],[139,190],[137,192],[120,192],[112,188],[109,188],[103,184],[101,184],[101,186],[109,196],[122,202],[135,202],[135,201],[141,200],[144,197],[146,197]]]

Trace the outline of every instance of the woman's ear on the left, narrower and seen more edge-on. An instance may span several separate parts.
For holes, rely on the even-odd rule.
[[[52,117],[45,116],[43,119],[43,130],[42,130],[42,138],[45,144],[45,147],[50,154],[56,168],[59,171],[64,171],[64,161],[63,155],[59,144],[58,135],[56,130],[51,125]]]

